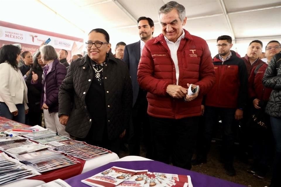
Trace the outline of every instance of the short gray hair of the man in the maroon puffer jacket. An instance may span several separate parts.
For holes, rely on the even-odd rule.
[[[159,18],[160,18],[161,13],[167,14],[167,13],[171,12],[173,9],[176,9],[178,11],[179,19],[181,21],[184,21],[185,8],[183,5],[177,3],[176,1],[170,1],[169,3],[166,3],[165,5],[163,5],[158,11]]]

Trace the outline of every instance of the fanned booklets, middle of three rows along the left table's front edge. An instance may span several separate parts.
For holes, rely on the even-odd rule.
[[[80,163],[75,158],[54,150],[27,153],[16,156],[16,159],[30,165],[40,173]]]

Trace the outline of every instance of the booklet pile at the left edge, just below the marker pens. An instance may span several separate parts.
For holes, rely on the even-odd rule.
[[[12,136],[0,139],[0,149],[2,150],[24,146],[28,144],[32,144],[32,142],[29,141],[27,138],[23,138],[20,136]]]

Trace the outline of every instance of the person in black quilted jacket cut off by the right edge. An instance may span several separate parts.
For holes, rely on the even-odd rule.
[[[273,49],[271,49],[273,50]],[[270,187],[281,186],[281,52],[270,61],[263,76],[263,85],[273,89],[265,112],[270,115],[271,129],[276,145],[273,176]]]

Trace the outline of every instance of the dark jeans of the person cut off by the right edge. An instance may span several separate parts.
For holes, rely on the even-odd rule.
[[[270,117],[270,123],[276,143],[276,155],[273,163],[271,184],[273,187],[277,187],[281,186],[281,118]]]

